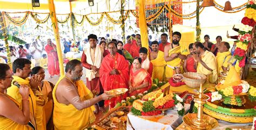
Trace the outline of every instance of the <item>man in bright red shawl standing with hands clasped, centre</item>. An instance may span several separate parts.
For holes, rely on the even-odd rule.
[[[116,42],[110,42],[107,48],[109,48],[110,54],[104,57],[99,69],[100,82],[102,83],[104,91],[127,88],[129,65],[124,56],[117,53]],[[123,96],[123,98],[125,98],[125,96]],[[110,104],[110,107],[114,107],[114,105],[121,100],[121,97],[105,100],[105,105]]]

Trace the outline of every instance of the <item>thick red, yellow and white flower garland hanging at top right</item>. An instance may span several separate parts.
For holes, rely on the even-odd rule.
[[[246,61],[246,52],[251,47],[252,41],[252,30],[256,25],[256,4],[254,1],[249,1],[246,5],[245,17],[241,20],[242,25],[239,27],[239,35],[237,47],[234,51],[233,58],[235,62],[233,65],[235,66],[235,70],[239,73],[241,68],[245,66]]]

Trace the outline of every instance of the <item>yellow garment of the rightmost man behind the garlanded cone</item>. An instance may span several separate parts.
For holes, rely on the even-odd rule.
[[[231,52],[223,52],[220,53],[218,52],[217,56],[216,56],[216,60],[217,60],[217,65],[218,65],[218,73],[223,72],[223,68],[222,67],[227,67],[228,66],[228,60],[230,60],[231,58]]]

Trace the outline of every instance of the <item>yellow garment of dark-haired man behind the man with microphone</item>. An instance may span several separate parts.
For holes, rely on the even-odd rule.
[[[17,81],[19,84],[26,84],[30,86],[29,84],[29,78],[26,78],[25,80],[18,76],[12,76],[14,77],[14,80]],[[29,89],[29,110],[30,110],[30,121],[35,122],[36,118],[36,97],[31,89]],[[17,100],[19,104],[21,104],[20,109],[22,110],[22,96],[19,93],[19,88],[11,83],[11,87],[7,89],[7,94]],[[35,124],[33,124],[35,125]],[[36,126],[36,125],[35,125]]]

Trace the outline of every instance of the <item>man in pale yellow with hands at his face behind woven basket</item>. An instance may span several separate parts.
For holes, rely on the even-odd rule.
[[[194,61],[198,64],[197,73],[207,76],[208,82],[215,83],[217,81],[217,62],[215,55],[205,49],[201,42],[193,44]]]

